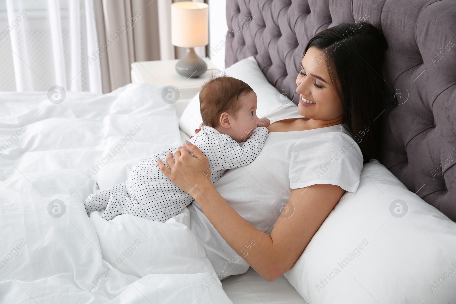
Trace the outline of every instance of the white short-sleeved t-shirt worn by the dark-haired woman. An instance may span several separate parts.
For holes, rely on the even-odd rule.
[[[273,108],[264,116],[271,124],[302,118],[294,103]],[[358,144],[345,124],[338,124],[269,133],[251,164],[228,170],[214,186],[240,216],[270,234],[290,198],[291,189],[332,184],[349,192],[346,196],[352,195],[358,189],[362,169],[363,155]],[[188,209],[190,229],[201,239],[218,278],[246,272],[249,264],[225,242],[198,203],[193,201]]]

